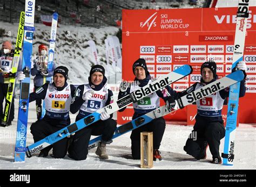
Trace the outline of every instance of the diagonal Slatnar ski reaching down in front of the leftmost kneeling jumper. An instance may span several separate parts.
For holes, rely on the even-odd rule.
[[[90,114],[89,116],[86,116],[83,119],[80,119],[76,121],[76,123],[73,123],[62,130],[59,130],[46,138],[33,143],[32,145],[26,147],[26,155],[28,157],[31,157],[32,154],[38,152],[39,150],[42,150],[43,148],[52,145],[53,143],[69,136],[70,134],[73,134],[79,130],[81,130],[84,127],[87,127],[96,121],[100,120],[100,113],[105,111],[107,114],[112,114],[123,107],[133,103],[136,103],[138,100],[142,99],[143,97],[146,97],[150,95],[151,93],[160,90],[166,85],[169,85],[173,82],[176,82],[180,80],[181,78],[189,75],[192,73],[192,67],[189,65],[181,66],[180,68],[170,72],[169,74],[166,74],[164,76],[161,76],[154,80],[152,83],[145,85],[145,87],[142,87],[129,95],[118,99],[117,102],[111,103],[107,106],[105,106],[102,109],[99,109],[97,112],[94,112]]]

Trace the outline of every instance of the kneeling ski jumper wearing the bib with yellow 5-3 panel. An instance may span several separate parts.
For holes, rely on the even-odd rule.
[[[76,88],[66,82],[68,71],[68,68],[64,66],[57,67],[53,73],[53,83],[46,83],[29,95],[29,102],[36,99],[44,99],[46,110],[44,118],[32,123],[30,127],[34,142],[42,140],[46,136],[70,125],[69,110]],[[18,80],[24,79],[23,76],[25,75],[19,72]],[[52,146],[45,147],[39,153],[39,157],[48,156],[51,148],[53,148],[53,157],[63,158],[68,149],[68,138],[57,141]]]

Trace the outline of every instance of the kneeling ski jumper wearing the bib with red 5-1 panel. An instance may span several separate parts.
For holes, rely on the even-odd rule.
[[[216,75],[216,63],[207,61],[201,65],[201,80],[193,84],[187,90],[180,92],[182,97],[187,93],[200,89],[204,85],[210,84],[218,79]],[[237,69],[246,70],[244,61],[237,64]],[[245,95],[245,80],[241,81],[239,97]],[[220,90],[210,96],[198,100],[196,123],[189,138],[186,141],[184,150],[187,154],[193,156],[197,160],[206,159],[206,149],[209,146],[212,154],[212,163],[222,163],[219,155],[220,140],[225,136],[225,127],[221,116],[224,100],[229,95],[229,88]],[[196,138],[192,138],[196,137]]]

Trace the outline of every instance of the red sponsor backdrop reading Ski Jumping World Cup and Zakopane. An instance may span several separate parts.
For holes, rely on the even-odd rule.
[[[172,84],[182,91],[200,76],[207,60],[217,63],[217,74],[231,73],[237,8],[123,10],[123,80],[134,78],[132,64],[144,58],[152,77],[190,64],[193,74]],[[240,99],[240,123],[256,123],[256,7],[250,7],[244,60],[247,64],[246,96]],[[132,116],[126,113],[122,120]],[[121,116],[121,115],[118,115]],[[186,109],[171,119],[186,119]],[[120,120],[120,117],[119,117]]]

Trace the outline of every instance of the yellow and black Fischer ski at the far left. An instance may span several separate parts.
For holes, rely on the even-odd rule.
[[[19,64],[19,56],[22,50],[22,42],[23,42],[23,34],[24,34],[24,20],[25,20],[25,12],[21,12],[21,17],[19,18],[19,28],[16,40],[16,46],[14,51],[14,59],[12,60],[11,73],[16,74]],[[11,111],[11,102],[14,97],[14,88],[15,88],[15,77],[9,78],[8,90],[6,95],[6,103],[4,108],[4,118],[2,121],[2,125],[7,126]]]

